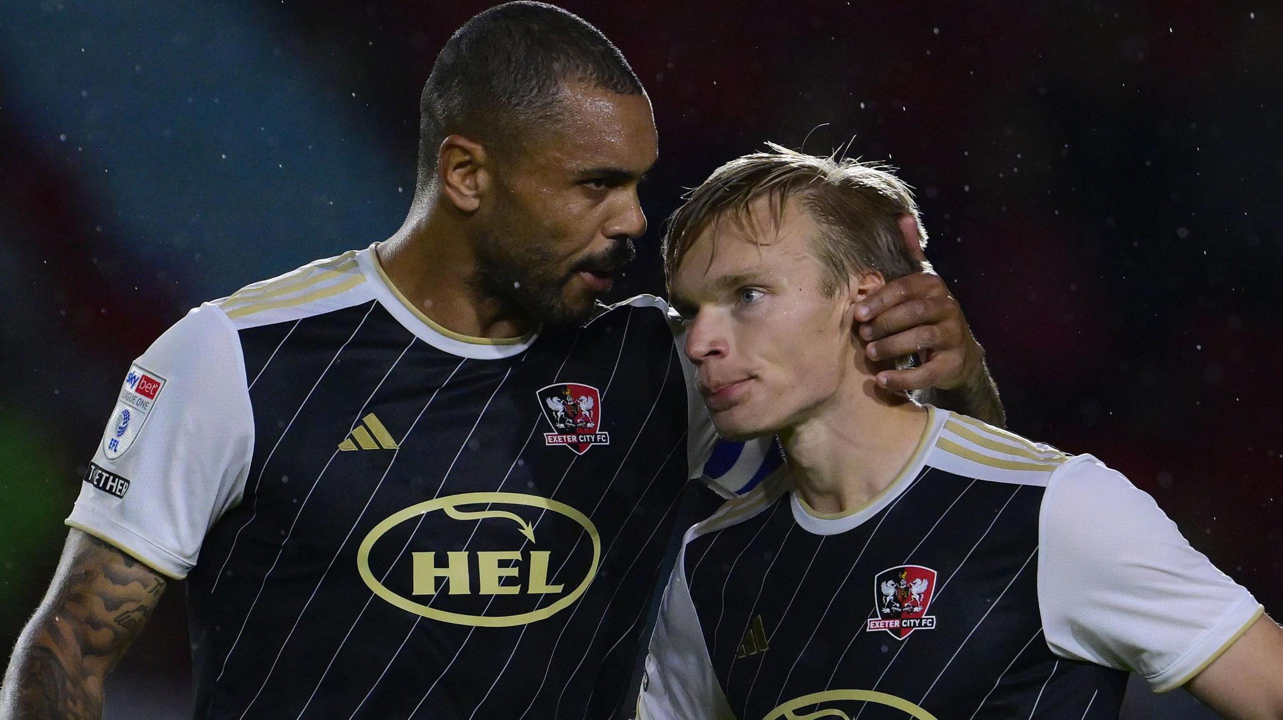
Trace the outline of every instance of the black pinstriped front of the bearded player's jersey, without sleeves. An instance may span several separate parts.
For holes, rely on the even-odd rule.
[[[482,720],[525,703],[536,717],[613,715],[615,692],[600,688],[626,685],[695,460],[662,304],[544,328],[508,355],[473,352],[411,327],[362,258],[361,288],[234,322],[255,446],[244,501],[223,512],[190,575],[196,716]],[[358,273],[312,268],[222,306],[294,302],[349,277]],[[576,455],[541,439],[553,428],[536,391],[550,382],[603,388],[608,445]],[[370,427],[371,415],[390,441],[345,442],[362,427],[353,418]],[[497,518],[485,523],[429,511],[389,524],[431,498],[500,488],[590,520],[581,530],[562,510],[532,502],[514,514],[495,500],[477,505]],[[523,523],[521,534],[503,518]],[[538,533],[529,547],[527,530]],[[468,574],[421,592],[427,552],[470,559]],[[518,556],[500,568],[521,574],[486,575],[498,555]],[[589,566],[594,575],[575,575]],[[572,589],[586,602],[561,602]],[[565,610],[523,625],[467,621],[550,603]]]

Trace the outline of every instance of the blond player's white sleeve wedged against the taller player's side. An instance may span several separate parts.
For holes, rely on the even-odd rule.
[[[686,587],[685,548],[663,592],[638,696],[638,720],[735,720]]]

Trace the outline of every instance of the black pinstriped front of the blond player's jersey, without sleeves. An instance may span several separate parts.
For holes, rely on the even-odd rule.
[[[939,442],[943,433],[985,462],[951,460],[957,455]],[[876,700],[840,700],[857,689],[938,717],[965,707],[971,720],[1116,711],[1123,674],[1066,664],[1038,642],[1039,509],[1049,469],[1064,456],[956,415],[942,415],[924,442],[931,450],[912,482],[862,515],[817,519],[788,496],[766,512],[761,498],[744,498],[688,534],[685,587],[698,616],[689,632],[702,635],[736,716],[775,716],[790,698],[824,692],[838,694],[794,715],[889,716]],[[780,511],[785,503],[790,512]],[[879,618],[875,579],[910,564],[935,573],[925,611],[933,624],[907,634],[869,629],[865,620]],[[738,657],[722,634],[757,621],[769,643]],[[1060,707],[1075,693],[1082,702]]]

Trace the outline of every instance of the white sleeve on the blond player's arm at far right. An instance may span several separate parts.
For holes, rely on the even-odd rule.
[[[1262,612],[1153,498],[1091,455],[1052,473],[1039,521],[1038,603],[1061,657],[1177,688]]]

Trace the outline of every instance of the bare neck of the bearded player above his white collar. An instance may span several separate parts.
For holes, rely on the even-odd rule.
[[[471,243],[440,213],[412,208],[405,224],[376,247],[375,256],[405,301],[448,331],[506,338],[527,334],[538,324],[477,287]]]

